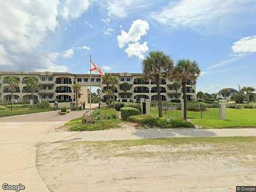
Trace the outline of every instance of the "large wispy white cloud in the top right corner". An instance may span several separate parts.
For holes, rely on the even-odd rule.
[[[255,1],[251,0],[181,0],[169,3],[161,12],[154,13],[153,18],[174,28],[195,28],[214,22],[225,23],[227,27],[230,24],[229,19],[236,13],[254,11]]]

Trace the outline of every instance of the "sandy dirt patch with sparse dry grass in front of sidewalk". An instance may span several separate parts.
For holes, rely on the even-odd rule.
[[[102,141],[41,145],[51,191],[234,191],[256,182],[255,142]]]

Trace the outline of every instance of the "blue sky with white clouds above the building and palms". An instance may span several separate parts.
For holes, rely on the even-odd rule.
[[[150,51],[196,60],[197,91],[256,87],[256,0],[0,2],[0,71],[141,73]]]

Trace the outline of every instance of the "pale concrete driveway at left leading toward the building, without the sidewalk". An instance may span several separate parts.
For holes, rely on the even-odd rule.
[[[52,129],[82,114],[83,111],[71,111],[67,116],[58,116],[57,111],[50,111],[0,118],[1,189],[3,183],[21,183],[25,185],[25,191],[49,191],[37,173],[35,145],[44,141]],[[54,135],[52,141],[58,141],[61,137]]]

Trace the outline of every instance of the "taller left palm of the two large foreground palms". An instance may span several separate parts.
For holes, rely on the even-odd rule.
[[[162,117],[162,98],[160,94],[160,77],[169,76],[173,70],[173,60],[163,51],[151,51],[142,61],[142,73],[146,80],[156,82],[158,116]]]

